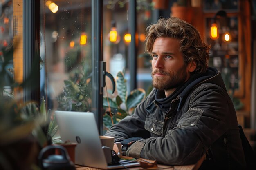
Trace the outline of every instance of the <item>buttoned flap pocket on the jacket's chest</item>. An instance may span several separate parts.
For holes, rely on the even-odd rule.
[[[164,124],[163,121],[146,117],[144,128],[151,133],[154,133],[156,135],[161,135],[163,131],[163,124]]]

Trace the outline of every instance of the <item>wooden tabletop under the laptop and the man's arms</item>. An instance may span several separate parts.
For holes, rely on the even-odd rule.
[[[157,164],[157,167],[153,168],[147,168],[144,169],[140,166],[137,167],[129,167],[130,170],[198,170],[198,168],[201,166],[202,162],[204,161],[205,156],[203,156],[196,164],[193,165],[183,165],[183,166],[168,166],[168,165],[162,165],[162,164]],[[76,170],[102,170],[98,168],[91,168],[87,166],[79,166],[76,165]],[[123,169],[117,169],[117,170],[126,170],[125,168]]]

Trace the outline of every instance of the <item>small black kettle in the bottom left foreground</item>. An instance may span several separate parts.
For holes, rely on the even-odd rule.
[[[61,155],[49,155],[49,150],[61,151]],[[48,153],[48,157],[46,157]],[[70,160],[66,148],[60,145],[48,145],[43,148],[38,156],[38,163],[42,170],[76,170],[74,163]]]

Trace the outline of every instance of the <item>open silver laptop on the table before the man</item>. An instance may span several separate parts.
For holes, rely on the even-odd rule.
[[[62,141],[76,142],[75,164],[101,169],[139,166],[139,162],[109,165],[99,138],[94,113],[55,111]]]

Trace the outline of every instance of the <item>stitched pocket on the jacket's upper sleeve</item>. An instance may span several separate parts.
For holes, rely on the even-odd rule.
[[[188,113],[186,114],[186,118],[182,121],[183,125],[191,125],[194,126],[198,123],[200,117],[202,116],[204,110],[200,108],[190,108]]]

